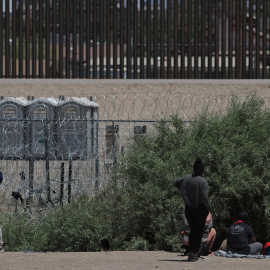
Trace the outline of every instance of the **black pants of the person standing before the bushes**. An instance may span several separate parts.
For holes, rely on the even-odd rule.
[[[192,208],[188,205],[185,207],[185,215],[190,228],[189,250],[193,253],[197,253],[200,249],[208,213],[209,211],[203,205],[200,205],[198,208]]]

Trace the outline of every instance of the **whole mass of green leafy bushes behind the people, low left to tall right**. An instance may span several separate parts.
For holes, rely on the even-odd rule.
[[[49,207],[36,220],[25,214],[1,217],[6,250],[98,251],[102,238],[114,250],[179,251],[184,204],[173,187],[206,164],[216,248],[239,211],[249,214],[257,240],[270,239],[270,112],[250,95],[232,98],[224,115],[205,110],[189,124],[177,116],[131,140],[118,157],[108,186],[94,198]]]

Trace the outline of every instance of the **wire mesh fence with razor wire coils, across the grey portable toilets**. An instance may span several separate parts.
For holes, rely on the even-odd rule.
[[[64,204],[77,195],[94,196],[110,181],[111,169],[129,141],[154,132],[156,121],[169,120],[174,114],[188,122],[203,110],[222,114],[231,98],[182,93],[97,94],[78,99],[61,96],[51,107],[48,99],[26,100],[21,106],[22,98],[3,98],[1,207],[39,211],[48,202]],[[92,114],[82,99],[92,102]],[[268,99],[264,101],[268,108]],[[52,111],[53,117],[48,119]]]

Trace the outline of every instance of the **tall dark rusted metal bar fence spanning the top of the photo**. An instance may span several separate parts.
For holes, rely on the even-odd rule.
[[[270,77],[267,0],[9,0],[0,78]]]

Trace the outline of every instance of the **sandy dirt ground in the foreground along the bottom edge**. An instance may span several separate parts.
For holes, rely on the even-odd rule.
[[[188,262],[187,257],[164,251],[112,251],[79,253],[0,254],[1,270],[254,270],[269,269],[269,259],[204,257]]]

